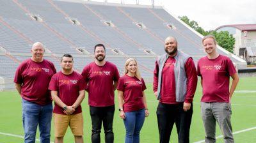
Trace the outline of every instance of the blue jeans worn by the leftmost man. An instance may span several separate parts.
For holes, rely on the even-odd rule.
[[[40,142],[49,143],[51,137],[52,103],[38,105],[22,99],[22,121],[24,128],[24,142],[34,143],[37,124],[40,131]]]

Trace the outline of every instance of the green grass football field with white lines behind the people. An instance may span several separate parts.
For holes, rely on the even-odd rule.
[[[193,102],[193,119],[190,130],[190,142],[203,142],[204,126],[200,116],[200,97],[202,88],[196,89],[195,100]],[[87,94],[86,94],[87,95]],[[147,84],[147,103],[150,116],[145,119],[141,130],[140,140],[142,143],[159,142],[157,130],[156,107],[157,100],[152,92],[152,85]],[[117,101],[117,98],[116,98]],[[236,142],[256,142],[256,78],[241,78],[237,86],[236,93],[232,98],[232,126],[234,139]],[[117,107],[116,102],[116,109]],[[84,142],[90,142],[91,119],[88,110],[88,98],[82,103],[84,117]],[[53,125],[53,124],[52,124]],[[115,133],[115,142],[124,142],[125,128],[122,119],[118,116],[118,110],[115,112],[113,130]],[[21,117],[21,99],[16,91],[5,91],[0,93],[0,143],[23,142],[22,136],[22,117]],[[220,137],[221,132],[216,129],[217,142],[223,142]],[[36,139],[39,139],[37,132]],[[74,137],[70,129],[65,135],[65,142],[74,142]],[[51,130],[51,141],[54,142],[54,130]],[[39,142],[37,140],[37,142]],[[101,133],[101,142],[104,142],[104,130]],[[170,142],[177,142],[177,133],[175,128],[172,131]]]

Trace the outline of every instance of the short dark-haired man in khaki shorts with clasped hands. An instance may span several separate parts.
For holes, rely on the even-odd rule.
[[[49,84],[54,106],[55,143],[62,143],[68,126],[76,143],[83,143],[83,115],[81,102],[84,99],[85,80],[75,72],[73,57],[69,54],[61,57],[62,70],[52,76]]]

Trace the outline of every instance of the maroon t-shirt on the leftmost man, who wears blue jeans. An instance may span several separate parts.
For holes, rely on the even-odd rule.
[[[51,103],[51,93],[48,90],[52,75],[56,73],[51,61],[37,63],[32,59],[23,61],[16,70],[14,82],[21,84],[21,97],[38,105]]]

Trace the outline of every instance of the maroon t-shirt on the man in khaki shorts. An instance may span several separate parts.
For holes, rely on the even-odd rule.
[[[52,76],[49,84],[49,90],[58,91],[58,97],[67,106],[72,106],[78,96],[79,91],[86,89],[85,80],[79,73],[73,71],[70,75],[65,75],[62,72],[58,72]],[[63,109],[55,103],[54,113],[65,114]],[[79,105],[73,114],[81,113],[81,105]]]

